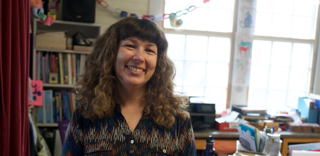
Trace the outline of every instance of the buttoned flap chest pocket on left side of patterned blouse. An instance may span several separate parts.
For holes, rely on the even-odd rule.
[[[84,146],[84,153],[89,154],[93,152],[107,152],[113,150],[113,144],[108,141],[100,141],[95,143],[89,143]]]

